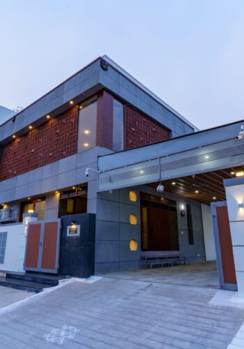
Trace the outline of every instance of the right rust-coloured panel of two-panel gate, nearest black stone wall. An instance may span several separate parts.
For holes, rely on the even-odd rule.
[[[58,244],[58,222],[46,222],[43,235],[42,269],[55,269],[56,245]]]

